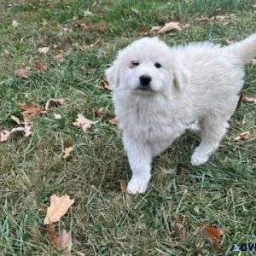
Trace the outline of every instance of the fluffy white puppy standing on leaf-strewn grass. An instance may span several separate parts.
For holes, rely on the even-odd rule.
[[[154,156],[195,121],[201,143],[191,163],[207,162],[236,109],[244,64],[254,56],[256,34],[224,47],[170,48],[159,38],[142,38],[119,51],[106,73],[132,171],[128,193],[145,192]]]

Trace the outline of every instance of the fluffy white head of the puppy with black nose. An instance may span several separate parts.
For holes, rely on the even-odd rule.
[[[112,90],[143,95],[169,90],[170,86],[182,90],[185,79],[181,67],[172,68],[172,61],[171,49],[159,38],[139,39],[119,51],[107,69],[108,83]]]

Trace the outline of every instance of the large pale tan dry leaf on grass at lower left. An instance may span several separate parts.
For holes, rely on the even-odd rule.
[[[61,219],[67,213],[69,207],[74,203],[74,199],[70,199],[69,195],[50,196],[50,206],[47,208],[44,224],[53,224]]]

